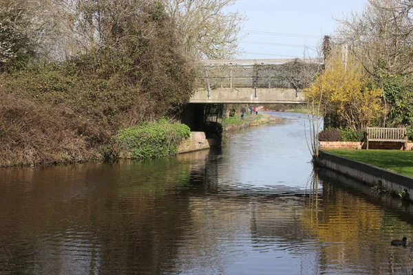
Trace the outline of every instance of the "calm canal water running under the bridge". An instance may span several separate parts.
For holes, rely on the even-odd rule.
[[[217,151],[0,170],[0,274],[411,274],[412,206],[313,171],[273,114]]]

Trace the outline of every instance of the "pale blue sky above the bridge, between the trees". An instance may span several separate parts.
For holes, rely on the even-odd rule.
[[[247,17],[237,58],[302,58],[317,56],[324,35],[337,28],[335,19],[360,11],[367,0],[238,0],[230,10]],[[264,32],[264,33],[257,33]],[[281,35],[283,34],[283,35]],[[285,34],[285,35],[284,35]],[[268,45],[283,44],[283,45]]]

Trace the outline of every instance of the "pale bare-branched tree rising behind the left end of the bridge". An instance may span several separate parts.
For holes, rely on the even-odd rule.
[[[237,0],[165,0],[187,52],[202,58],[229,58],[237,52],[245,17],[226,12]]]

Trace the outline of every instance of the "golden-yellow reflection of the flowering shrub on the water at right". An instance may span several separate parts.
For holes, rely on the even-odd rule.
[[[330,179],[323,179],[319,201],[313,200],[312,196],[306,198],[304,206],[308,210],[303,212],[301,220],[320,243],[321,269],[337,265],[345,270],[346,266],[352,265],[366,269],[370,267],[369,272],[374,274],[385,273],[386,268],[400,271],[400,263],[406,263],[407,255],[403,256],[403,252],[394,250],[390,245],[383,246],[383,231],[386,227],[390,228],[385,226],[388,221],[385,212],[352,195],[343,188],[343,181],[337,186]],[[318,171],[315,180],[318,180]],[[394,228],[405,225],[401,221],[392,222]],[[412,228],[405,230],[412,231]],[[388,267],[383,263],[388,263]]]

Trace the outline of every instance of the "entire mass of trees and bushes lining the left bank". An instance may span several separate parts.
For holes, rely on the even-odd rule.
[[[175,154],[189,129],[165,118],[189,102],[199,58],[233,53],[225,19],[243,20],[220,1],[199,5],[2,1],[0,166]],[[193,11],[202,23],[186,23]]]

